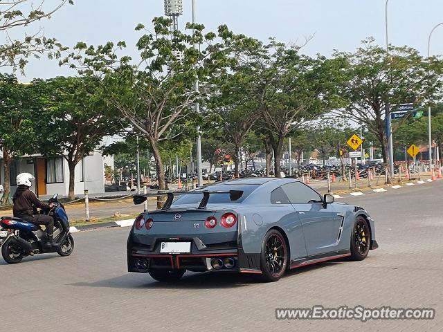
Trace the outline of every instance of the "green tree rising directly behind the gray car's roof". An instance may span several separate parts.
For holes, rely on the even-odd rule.
[[[237,41],[235,58],[251,77],[248,100],[255,100],[262,119],[257,122],[273,149],[274,174],[280,176],[284,139],[306,121],[338,106],[334,98],[335,59],[312,59],[299,53],[301,46],[271,39],[262,44],[255,39]],[[268,153],[266,155],[269,156]]]

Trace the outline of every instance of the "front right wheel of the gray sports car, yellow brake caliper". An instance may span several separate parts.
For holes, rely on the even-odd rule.
[[[363,261],[368,256],[371,234],[368,221],[363,216],[357,216],[351,232],[352,261]]]

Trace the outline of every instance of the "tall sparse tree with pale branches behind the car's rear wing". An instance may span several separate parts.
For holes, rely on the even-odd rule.
[[[116,46],[109,42],[98,48],[80,42],[71,54],[78,64],[71,66],[77,66],[80,73],[104,77],[109,104],[150,142],[159,189],[165,190],[160,142],[189,130],[189,123],[196,118],[193,106],[210,92],[205,82],[223,64],[223,58],[217,52],[217,43],[213,43],[217,36],[204,35],[204,26],[188,25],[188,29],[193,29],[189,35],[172,31],[170,19],[159,17],[153,23],[153,32],[146,30],[136,44],[141,56],[138,65],[132,64],[128,56],[118,59],[116,52],[125,47],[124,42]],[[144,29],[141,24],[136,27]],[[220,37],[225,30],[219,28]],[[202,47],[195,48],[193,44]],[[201,83],[199,93],[195,92],[197,79]]]

